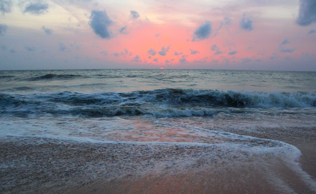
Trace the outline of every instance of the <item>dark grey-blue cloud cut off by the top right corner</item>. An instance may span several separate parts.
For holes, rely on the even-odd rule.
[[[296,23],[300,26],[308,26],[314,22],[316,22],[316,1],[300,0],[300,9]]]

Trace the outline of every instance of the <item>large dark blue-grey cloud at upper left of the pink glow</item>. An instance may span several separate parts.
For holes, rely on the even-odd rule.
[[[110,26],[113,21],[106,14],[106,11],[92,10],[89,25],[93,29],[94,33],[99,35],[101,38],[110,39],[111,30]]]

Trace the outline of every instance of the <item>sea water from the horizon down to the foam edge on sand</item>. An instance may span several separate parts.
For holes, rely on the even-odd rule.
[[[0,71],[0,138],[202,146],[296,165],[295,146],[239,133],[314,128],[315,83],[298,71]]]

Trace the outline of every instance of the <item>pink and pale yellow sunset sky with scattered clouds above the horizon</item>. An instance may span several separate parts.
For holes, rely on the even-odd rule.
[[[0,70],[316,71],[316,0],[0,0]]]

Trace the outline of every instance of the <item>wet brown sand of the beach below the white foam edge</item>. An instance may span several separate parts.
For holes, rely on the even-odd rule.
[[[315,129],[243,133],[295,145],[302,166],[273,154],[204,146],[6,137],[0,141],[0,193],[315,193]]]

